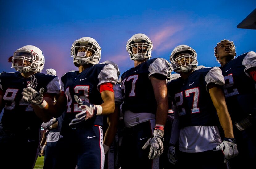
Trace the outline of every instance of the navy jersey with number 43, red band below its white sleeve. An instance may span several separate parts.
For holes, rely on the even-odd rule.
[[[96,64],[92,67],[86,68],[79,73],[78,71],[70,71],[61,77],[61,89],[65,92],[67,97],[67,109],[63,115],[62,128],[70,130],[68,124],[75,115],[81,112],[78,104],[74,100],[74,95],[78,95],[82,100],[95,105],[103,103],[99,86],[103,83],[117,82],[117,72],[111,64]],[[95,116],[86,120],[86,125],[99,125],[102,126],[103,116]],[[62,130],[62,129],[61,129]]]

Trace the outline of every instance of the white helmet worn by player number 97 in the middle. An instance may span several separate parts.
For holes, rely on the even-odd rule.
[[[126,50],[131,60],[150,59],[153,43],[145,34],[138,33],[128,40]]]

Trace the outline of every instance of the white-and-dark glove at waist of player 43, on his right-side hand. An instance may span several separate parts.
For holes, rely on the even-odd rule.
[[[87,119],[90,119],[93,116],[101,115],[102,113],[101,105],[94,105],[86,101],[82,101],[77,95],[74,95],[74,98],[76,102],[80,105],[79,108],[82,109],[82,111],[76,114],[76,118],[71,120],[71,123],[69,123],[70,127],[76,128],[78,123],[85,121]]]

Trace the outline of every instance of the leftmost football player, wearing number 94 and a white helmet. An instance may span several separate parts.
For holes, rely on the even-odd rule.
[[[44,67],[44,56],[35,46],[19,48],[14,52],[11,62],[12,68],[18,72],[0,74],[0,111],[4,107],[0,161],[2,166],[9,168],[19,168],[21,164],[24,168],[34,168],[41,124],[50,117],[36,113],[31,104],[22,99],[21,93],[28,86],[35,90],[44,88],[44,99],[52,105],[54,96],[60,91],[59,78],[40,73]],[[13,162],[18,152],[22,152],[22,155]]]

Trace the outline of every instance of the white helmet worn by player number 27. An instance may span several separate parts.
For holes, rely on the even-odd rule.
[[[179,45],[171,52],[170,62],[174,72],[189,72],[197,67],[196,51],[187,45]]]

